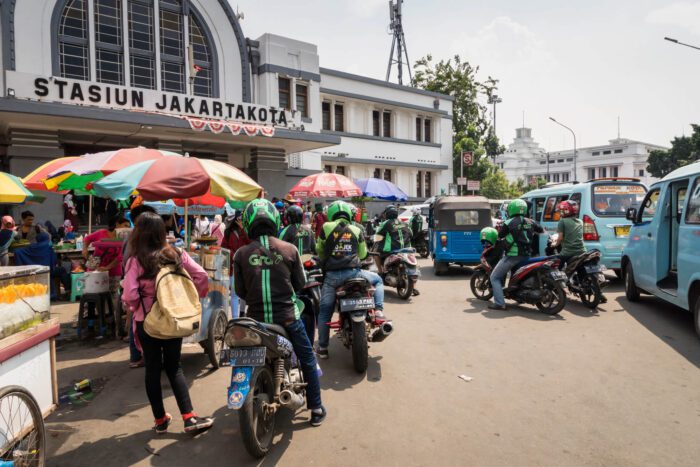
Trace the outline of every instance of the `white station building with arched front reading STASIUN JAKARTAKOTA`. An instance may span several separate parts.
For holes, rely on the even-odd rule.
[[[415,199],[451,182],[451,96],[251,40],[227,0],[3,0],[0,38],[0,170],[18,176],[142,145],[226,161],[269,196],[321,170]],[[34,211],[60,220],[59,202]]]

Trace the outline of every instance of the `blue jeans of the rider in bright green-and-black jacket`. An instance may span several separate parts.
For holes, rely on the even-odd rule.
[[[343,269],[340,271],[328,271],[323,279],[321,288],[321,310],[318,314],[318,346],[328,348],[330,328],[328,322],[333,317],[333,305],[335,305],[335,289],[343,285],[348,279],[364,277],[375,288],[374,306],[378,310],[384,309],[384,282],[379,274],[362,269]]]

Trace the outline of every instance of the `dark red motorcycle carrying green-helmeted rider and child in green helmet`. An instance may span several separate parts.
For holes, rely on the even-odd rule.
[[[474,296],[488,301],[493,297],[491,271],[496,266],[490,264],[486,257],[493,247],[484,250],[480,264],[474,269],[470,287]],[[559,270],[556,257],[530,258],[516,265],[510,272],[510,281],[504,287],[506,298],[518,303],[535,305],[538,310],[548,315],[558,314],[566,306],[564,286],[566,274]]]

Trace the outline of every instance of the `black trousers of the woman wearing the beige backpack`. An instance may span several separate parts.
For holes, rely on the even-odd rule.
[[[160,373],[165,374],[173,388],[173,394],[181,414],[192,412],[190,391],[187,389],[185,374],[180,366],[182,339],[156,339],[143,330],[143,321],[136,322],[136,332],[139,335],[143,358],[146,363],[146,395],[151,403],[151,411],[155,419],[165,416],[163,407],[163,391],[160,387]]]

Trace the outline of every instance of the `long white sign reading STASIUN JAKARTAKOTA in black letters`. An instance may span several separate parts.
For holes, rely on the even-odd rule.
[[[139,110],[178,116],[233,120],[271,126],[290,126],[290,111],[250,103],[175,94],[113,84],[37,76],[8,71],[5,86],[18,99],[61,102],[110,109]]]

